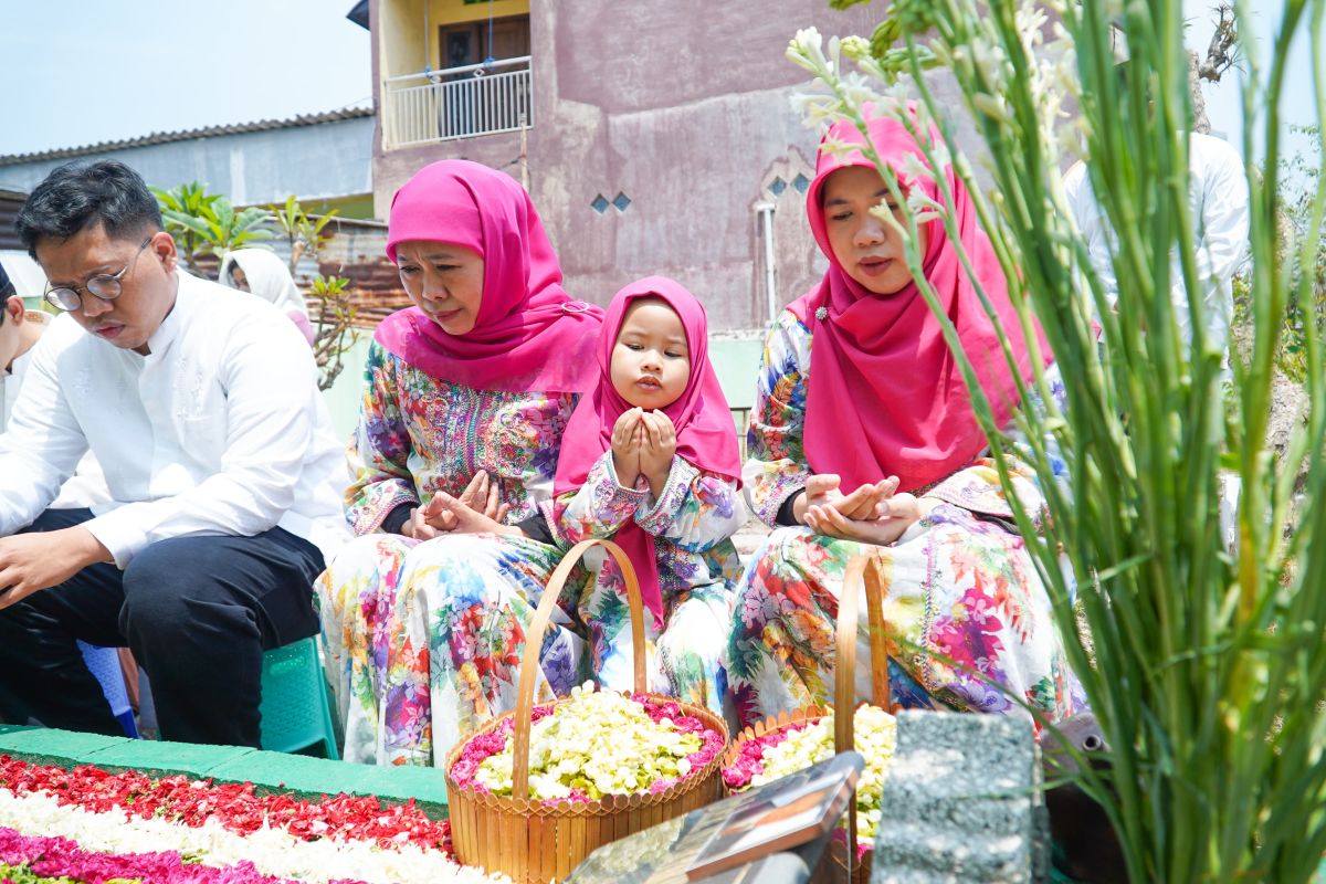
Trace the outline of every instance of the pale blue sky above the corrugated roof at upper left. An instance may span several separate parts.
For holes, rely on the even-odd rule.
[[[0,0],[0,155],[373,95],[354,0]]]

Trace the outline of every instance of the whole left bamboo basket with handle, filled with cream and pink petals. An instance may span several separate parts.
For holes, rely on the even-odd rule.
[[[575,688],[533,705],[544,632],[579,558],[602,546],[626,580],[635,691]],[[520,884],[561,880],[594,848],[721,797],[723,720],[646,691],[644,608],[630,559],[610,541],[577,543],[553,571],[525,637],[516,710],[452,749],[452,843],[467,865]]]

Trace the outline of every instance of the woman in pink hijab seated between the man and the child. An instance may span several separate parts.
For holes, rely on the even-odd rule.
[[[317,591],[345,758],[427,765],[514,705],[512,648],[557,562],[534,541],[453,535],[442,501],[541,518],[603,313],[562,290],[524,188],[479,163],[434,163],[396,192],[387,257],[414,306],[369,349],[345,494],[358,537]],[[544,663],[568,691],[583,640],[556,634]]]

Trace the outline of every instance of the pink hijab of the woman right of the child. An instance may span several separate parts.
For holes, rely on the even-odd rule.
[[[915,154],[924,164],[920,148],[900,122],[875,117],[869,119],[869,130],[875,151],[900,179],[907,154]],[[861,131],[846,122],[835,123],[825,138],[865,143]],[[937,139],[937,133],[932,131],[932,138]],[[806,211],[815,243],[829,257],[829,272],[818,286],[789,305],[813,334],[806,460],[817,473],[838,473],[845,493],[887,476],[898,476],[900,490],[914,490],[952,474],[976,457],[987,445],[985,435],[976,423],[971,396],[939,322],[916,284],[891,296],[876,296],[847,276],[834,257],[821,200],[825,179],[845,166],[871,167],[871,163],[861,151],[847,155],[819,151]],[[1029,379],[1030,355],[994,250],[977,227],[976,209],[952,167],[943,174],[953,195],[953,220],[963,247],[1000,327],[1010,338],[1018,374]],[[943,204],[935,182],[918,179],[912,187],[922,187]],[[1017,378],[1009,371],[994,326],[944,232],[943,220],[936,217],[926,225],[926,278],[957,329],[963,350],[991,399],[996,423],[1002,427],[1018,402]],[[1044,338],[1041,351],[1049,363],[1050,350]]]

